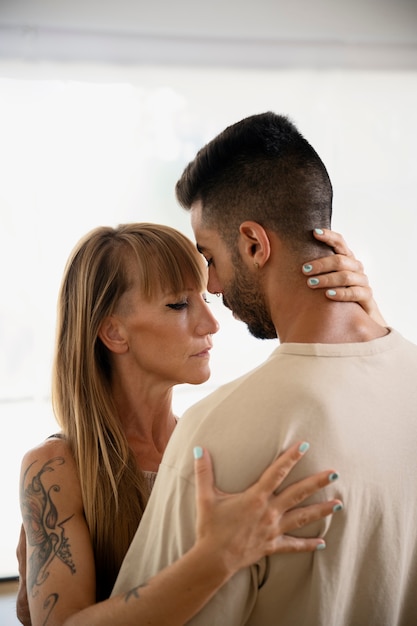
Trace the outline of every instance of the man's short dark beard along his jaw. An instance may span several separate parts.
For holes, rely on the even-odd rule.
[[[223,304],[248,326],[257,339],[276,339],[277,332],[268,313],[265,297],[259,282],[242,269],[242,262],[234,264],[235,275],[224,286]]]

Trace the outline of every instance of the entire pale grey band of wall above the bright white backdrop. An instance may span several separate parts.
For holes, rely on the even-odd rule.
[[[243,68],[417,68],[415,0],[2,0],[0,56]]]

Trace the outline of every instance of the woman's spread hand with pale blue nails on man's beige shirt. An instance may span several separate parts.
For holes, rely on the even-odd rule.
[[[292,537],[286,533],[343,508],[336,499],[298,506],[335,480],[336,472],[320,472],[278,492],[307,449],[308,444],[301,442],[291,446],[254,485],[237,494],[227,494],[215,487],[210,455],[202,448],[195,449],[197,543],[210,542],[230,572],[266,555],[325,547],[321,538]]]

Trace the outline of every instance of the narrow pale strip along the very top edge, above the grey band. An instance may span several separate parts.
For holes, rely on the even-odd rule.
[[[416,43],[414,0],[2,0],[0,23],[151,36]]]

